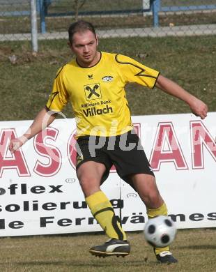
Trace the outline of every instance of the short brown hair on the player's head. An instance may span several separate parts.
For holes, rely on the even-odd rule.
[[[70,44],[72,44],[72,36],[76,32],[84,32],[86,30],[90,30],[96,37],[95,28],[93,27],[93,24],[91,24],[90,22],[80,20],[78,22],[70,24],[70,27],[68,29],[68,36],[69,36],[68,38],[69,38]]]

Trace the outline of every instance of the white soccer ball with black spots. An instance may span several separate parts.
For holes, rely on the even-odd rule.
[[[176,231],[176,226],[169,216],[157,216],[146,223],[144,236],[153,247],[164,248],[173,242]]]

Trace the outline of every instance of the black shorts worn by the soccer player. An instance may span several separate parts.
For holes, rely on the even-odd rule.
[[[86,161],[103,163],[106,167],[102,182],[114,165],[118,176],[132,186],[131,174],[154,173],[148,163],[140,139],[134,130],[116,137],[82,136],[77,139],[77,169]]]

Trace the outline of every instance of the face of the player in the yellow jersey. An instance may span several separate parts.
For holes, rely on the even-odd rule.
[[[72,45],[70,48],[77,56],[80,66],[94,66],[100,59],[100,53],[97,51],[98,38],[94,33],[87,30],[84,32],[76,32],[72,36]]]

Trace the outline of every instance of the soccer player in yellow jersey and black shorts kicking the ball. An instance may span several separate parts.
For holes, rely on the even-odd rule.
[[[150,89],[156,86],[185,101],[201,119],[207,116],[208,108],[157,70],[128,56],[98,51],[98,37],[92,24],[75,22],[68,33],[68,45],[76,58],[59,69],[47,105],[24,135],[11,140],[9,149],[14,152],[49,126],[56,113],[70,101],[77,121],[77,177],[91,213],[109,237],[90,252],[99,257],[125,256],[130,253],[127,236],[109,199],[100,190],[112,165],[121,179],[139,193],[148,218],[167,215],[154,173],[133,130],[125,85],[137,82]],[[159,262],[177,262],[169,247],[154,248],[154,252]]]

